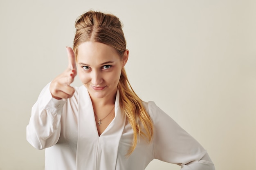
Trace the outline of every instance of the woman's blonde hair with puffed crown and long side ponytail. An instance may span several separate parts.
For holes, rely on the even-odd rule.
[[[73,49],[76,60],[78,46],[88,41],[112,46],[119,56],[123,57],[126,50],[126,40],[121,22],[115,15],[88,11],[76,19],[75,27],[76,34]],[[137,135],[144,137],[148,142],[152,140],[153,123],[143,107],[141,99],[130,86],[124,67],[122,67],[117,88],[120,94],[119,105],[126,113],[126,117],[133,129],[133,142],[128,150],[128,155],[130,155],[137,145]],[[144,130],[142,130],[141,124]]]

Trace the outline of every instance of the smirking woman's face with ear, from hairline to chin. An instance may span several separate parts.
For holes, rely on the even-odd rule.
[[[77,71],[92,99],[113,99],[121,68],[128,59],[128,50],[121,58],[111,47],[99,42],[84,42],[78,46]]]

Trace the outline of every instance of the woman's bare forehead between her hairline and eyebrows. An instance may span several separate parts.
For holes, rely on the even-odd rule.
[[[115,49],[109,45],[100,42],[84,42],[78,46],[78,62],[93,62],[97,64],[108,60],[120,60]]]

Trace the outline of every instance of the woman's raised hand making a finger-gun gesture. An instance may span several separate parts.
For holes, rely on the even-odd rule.
[[[67,99],[72,97],[75,90],[70,84],[74,81],[76,76],[76,60],[72,48],[66,47],[68,57],[67,69],[58,75],[50,84],[50,92],[55,99]]]

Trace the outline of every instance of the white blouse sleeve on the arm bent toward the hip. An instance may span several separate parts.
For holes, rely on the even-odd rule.
[[[154,102],[148,102],[148,111],[155,159],[180,165],[181,170],[215,170],[207,151]]]

